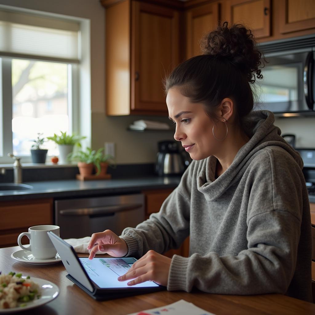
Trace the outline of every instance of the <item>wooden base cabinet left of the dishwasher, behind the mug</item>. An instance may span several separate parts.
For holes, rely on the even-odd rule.
[[[53,200],[1,202],[0,213],[0,247],[15,246],[20,233],[28,232],[29,227],[53,224]],[[23,237],[22,243],[29,240]]]

